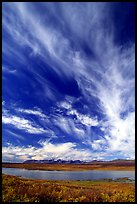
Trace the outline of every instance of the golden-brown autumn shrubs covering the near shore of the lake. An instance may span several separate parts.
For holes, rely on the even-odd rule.
[[[135,202],[133,183],[31,180],[2,175],[3,202]]]

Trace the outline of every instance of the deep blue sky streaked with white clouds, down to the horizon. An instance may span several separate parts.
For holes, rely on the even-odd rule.
[[[135,158],[135,5],[2,3],[2,159]]]

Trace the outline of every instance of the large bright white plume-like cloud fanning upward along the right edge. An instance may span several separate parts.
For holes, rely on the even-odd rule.
[[[99,49],[102,47],[99,46]],[[111,43],[108,52],[106,50],[104,53],[101,50],[101,54],[98,55],[100,64],[93,60],[90,66],[90,61],[82,59],[80,77],[77,74],[77,82],[85,98],[89,101],[92,101],[92,97],[99,100],[99,109],[105,115],[105,118],[99,121],[99,126],[105,135],[102,140],[108,145],[108,150],[105,151],[108,151],[108,154],[120,152],[119,155],[126,155],[128,158],[135,157],[134,53],[134,44],[121,49]],[[75,62],[79,65],[77,58]],[[87,70],[84,67],[87,67]],[[96,78],[93,73],[98,77]],[[76,111],[71,112],[77,115]],[[125,114],[124,118],[122,114]],[[84,119],[87,125],[91,121]],[[103,150],[103,145],[100,146],[94,141],[91,145],[95,149]]]

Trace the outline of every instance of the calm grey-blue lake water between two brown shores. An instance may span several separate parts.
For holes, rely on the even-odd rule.
[[[2,168],[2,173],[21,176],[31,179],[49,179],[49,180],[99,180],[99,179],[117,179],[127,177],[135,181],[135,171],[41,171],[27,170],[18,168]]]

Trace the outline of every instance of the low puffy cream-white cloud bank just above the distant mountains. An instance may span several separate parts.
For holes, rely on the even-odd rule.
[[[95,158],[103,157],[104,153],[91,153],[87,149],[78,149],[72,142],[53,144],[48,141],[40,141],[40,148],[32,146],[20,147],[9,144],[2,148],[3,161],[6,159],[24,161],[26,159],[63,159],[63,160],[83,160],[90,161]],[[11,155],[13,157],[11,158]]]

